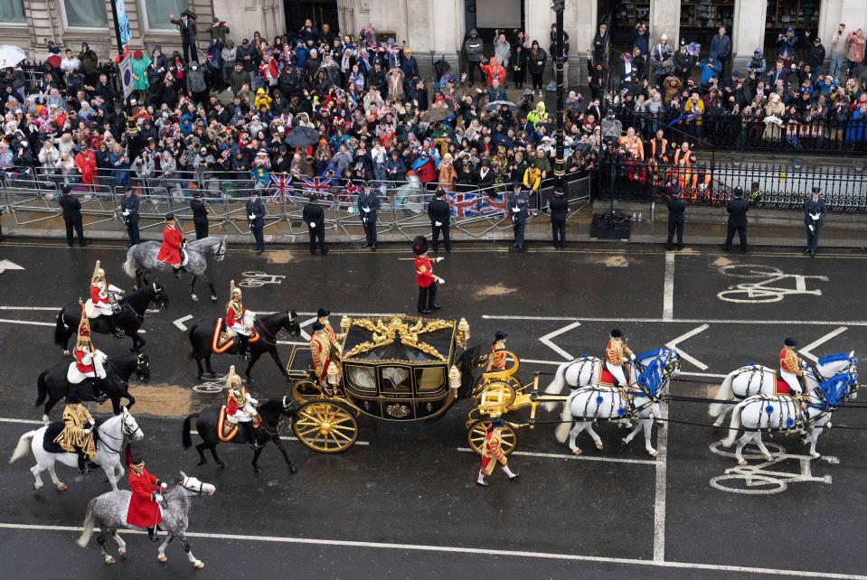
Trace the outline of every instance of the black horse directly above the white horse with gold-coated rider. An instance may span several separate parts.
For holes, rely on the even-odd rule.
[[[45,403],[45,414],[42,416],[43,421],[48,420],[48,414],[57,401],[65,398],[74,390],[82,401],[93,401],[93,384],[94,379],[87,379],[78,385],[70,385],[66,379],[66,372],[70,368],[69,362],[58,362],[49,370],[43,370],[36,380],[36,388],[39,391],[39,397],[36,398],[36,403],[33,407],[39,407]],[[122,410],[120,407],[120,399],[126,398],[129,403],[127,409],[136,404],[136,398],[129,394],[129,378],[133,372],[136,373],[138,380],[146,383],[150,380],[150,360],[146,354],[138,354],[137,352],[130,354],[122,354],[119,357],[112,357],[106,362],[106,378],[102,384],[105,388],[105,393],[111,399],[111,409],[115,415],[119,415]]]

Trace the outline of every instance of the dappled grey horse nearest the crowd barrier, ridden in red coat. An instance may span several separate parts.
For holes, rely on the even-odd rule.
[[[160,243],[147,241],[136,244],[127,250],[127,261],[124,262],[124,272],[131,278],[136,278],[136,287],[147,285],[147,274],[150,270],[160,272],[174,272],[174,268],[156,257],[159,255]],[[190,285],[190,298],[196,302],[199,297],[195,295],[196,280],[202,278],[211,287],[211,302],[217,302],[217,291],[214,290],[213,282],[204,275],[208,267],[208,253],[213,254],[214,260],[221,262],[226,257],[226,236],[189,241],[184,245],[186,261],[184,268],[193,274],[193,283]]]

